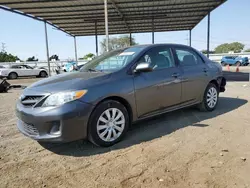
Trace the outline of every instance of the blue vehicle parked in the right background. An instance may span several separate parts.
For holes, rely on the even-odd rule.
[[[249,64],[248,57],[225,56],[221,59],[221,65],[247,66]]]

